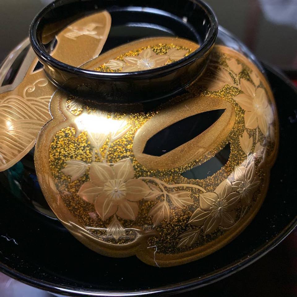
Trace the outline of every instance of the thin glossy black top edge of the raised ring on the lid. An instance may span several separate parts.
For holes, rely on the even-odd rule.
[[[72,2],[79,2],[80,0],[72,0]],[[81,77],[86,78],[96,78],[96,79],[113,79],[113,80],[131,80],[131,79],[146,79],[146,78],[152,78],[154,75],[162,75],[166,73],[171,73],[173,71],[178,70],[179,68],[193,62],[193,60],[196,60],[197,58],[203,57],[203,55],[213,46],[218,33],[218,24],[217,24],[217,18],[212,11],[212,9],[205,4],[201,0],[188,0],[191,2],[196,3],[199,5],[208,15],[211,28],[208,33],[208,36],[206,37],[206,40],[203,42],[202,45],[198,49],[196,49],[194,52],[189,54],[188,56],[184,57],[183,59],[180,59],[179,61],[175,61],[173,63],[170,63],[168,65],[150,69],[150,70],[144,70],[144,71],[134,71],[134,72],[123,72],[123,73],[113,73],[113,72],[100,72],[100,71],[91,71],[91,70],[85,70],[82,68],[74,67],[68,64],[65,64],[63,62],[60,62],[56,59],[54,59],[52,56],[50,56],[40,45],[37,39],[37,31],[38,26],[40,24],[41,19],[51,10],[54,9],[55,5],[60,3],[61,0],[56,0],[52,3],[50,3],[48,6],[46,6],[41,12],[39,12],[34,20],[32,21],[32,24],[30,26],[29,31],[29,38],[32,45],[32,48],[34,52],[37,54],[38,58],[45,63],[46,65],[50,65],[51,67],[55,67],[61,71],[65,71],[68,73],[72,73],[75,75],[80,75]],[[68,2],[67,4],[70,4],[71,2]],[[94,10],[95,12],[95,10]],[[91,13],[90,13],[91,14]]]

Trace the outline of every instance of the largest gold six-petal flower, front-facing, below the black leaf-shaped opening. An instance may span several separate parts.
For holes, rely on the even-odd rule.
[[[103,221],[117,214],[127,220],[135,220],[138,201],[151,192],[140,179],[134,179],[134,169],[129,158],[118,161],[112,167],[93,162],[89,172],[90,181],[84,183],[78,195],[95,205]]]

